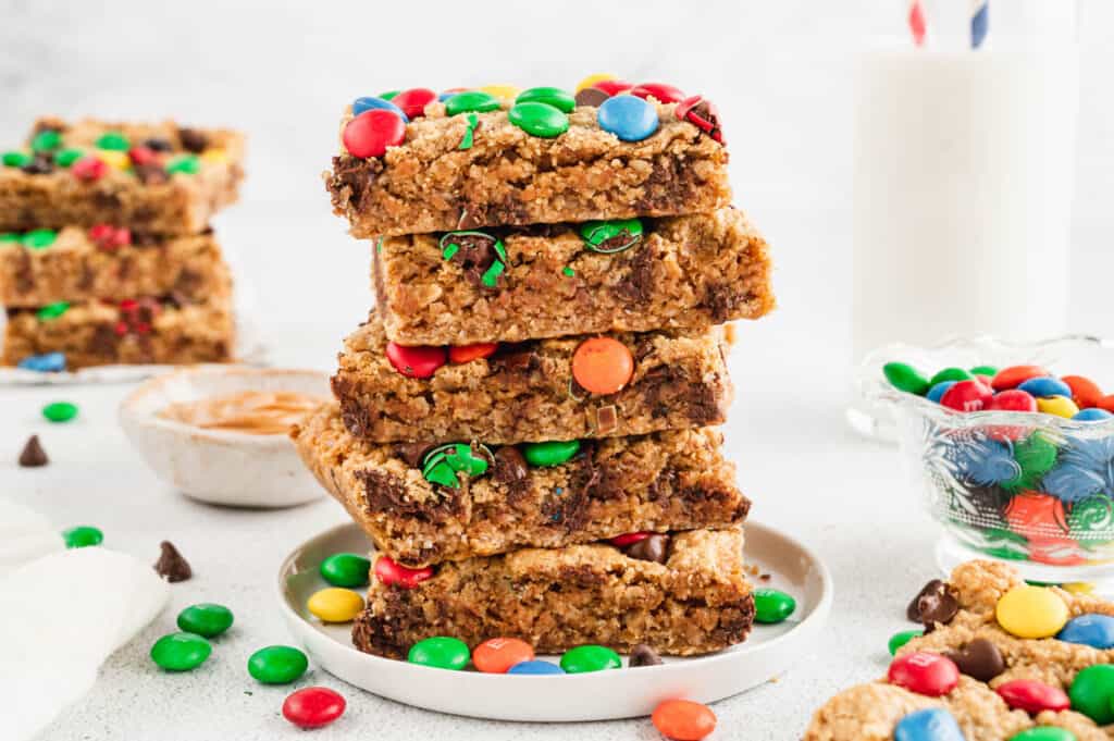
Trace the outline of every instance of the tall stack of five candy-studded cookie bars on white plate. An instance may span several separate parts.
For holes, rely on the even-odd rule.
[[[378,305],[293,437],[377,548],[361,651],[688,655],[751,628],[750,501],[711,426],[721,324],[773,306],[766,245],[730,204],[714,106],[631,88],[408,90],[344,116],[326,185]],[[384,110],[407,125],[368,154]]]

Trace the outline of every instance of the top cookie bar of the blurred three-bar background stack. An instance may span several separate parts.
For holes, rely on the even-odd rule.
[[[126,225],[194,234],[237,197],[243,137],[227,129],[58,118],[3,154],[0,232]]]

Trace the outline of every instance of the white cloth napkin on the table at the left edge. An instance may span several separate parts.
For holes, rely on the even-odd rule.
[[[3,738],[32,739],[82,698],[169,594],[150,564],[102,547],[67,550],[46,518],[0,499]]]

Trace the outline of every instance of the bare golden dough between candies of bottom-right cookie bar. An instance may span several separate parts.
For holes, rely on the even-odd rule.
[[[910,652],[948,654],[965,650],[973,641],[986,640],[1000,652],[1005,671],[989,682],[967,675],[941,698],[929,698],[879,680],[846,690],[821,706],[812,718],[805,741],[883,741],[908,713],[926,708],[950,712],[967,741],[1005,741],[1037,725],[1067,729],[1078,741],[1108,741],[1114,727],[1098,727],[1073,710],[1045,710],[1029,715],[1010,710],[995,688],[1010,680],[1037,680],[1065,692],[1083,669],[1114,662],[1114,650],[1098,650],[1057,638],[1020,638],[1001,628],[995,616],[998,599],[1024,581],[1016,571],[999,563],[969,562],[958,566],[948,581],[958,602],[958,612],[947,624],[934,623],[925,636],[902,646],[897,655]],[[1114,605],[1086,594],[1049,587],[1068,607],[1069,614],[1098,613],[1114,616]]]

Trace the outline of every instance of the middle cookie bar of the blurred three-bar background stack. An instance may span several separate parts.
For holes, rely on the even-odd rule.
[[[209,231],[153,237],[105,224],[0,234],[0,304],[9,308],[140,295],[198,301],[227,283]]]

